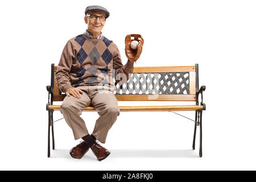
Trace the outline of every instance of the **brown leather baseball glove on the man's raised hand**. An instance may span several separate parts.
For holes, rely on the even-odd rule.
[[[134,39],[131,39],[131,37],[134,37]],[[141,40],[139,40],[139,38],[141,38]],[[132,49],[130,47],[130,44],[131,44],[131,42],[133,42],[133,40],[137,40],[139,42],[137,49]],[[131,62],[137,61],[139,59],[139,56],[141,56],[143,43],[144,43],[144,39],[139,34],[126,35],[126,37],[125,37],[125,55]]]

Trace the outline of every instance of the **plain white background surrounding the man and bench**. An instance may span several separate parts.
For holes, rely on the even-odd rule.
[[[144,38],[135,67],[199,64],[207,106],[203,158],[199,128],[193,151],[193,122],[168,112],[121,113],[102,144],[112,154],[101,162],[92,151],[80,160],[69,156],[79,140],[62,119],[55,122],[56,150],[47,158],[51,63],[58,64],[65,43],[86,30],[89,5],[110,11],[102,33],[117,44],[123,64],[127,34]],[[255,9],[255,1],[245,0],[1,1],[0,169],[256,169]],[[187,103],[119,102],[134,104]],[[180,114],[194,119],[195,113]],[[98,114],[81,117],[92,132]]]

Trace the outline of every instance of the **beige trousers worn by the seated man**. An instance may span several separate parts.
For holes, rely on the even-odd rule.
[[[80,117],[82,110],[87,106],[93,106],[100,117],[97,119],[93,135],[101,143],[106,142],[109,129],[113,126],[119,115],[117,98],[114,91],[108,86],[78,86],[84,93],[80,98],[66,96],[60,106],[68,126],[71,127],[75,139],[80,139],[88,135],[84,120]]]

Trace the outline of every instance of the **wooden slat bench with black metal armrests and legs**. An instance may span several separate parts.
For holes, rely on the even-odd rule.
[[[53,133],[53,111],[60,105],[54,101],[63,101],[65,94],[56,85],[55,73],[57,67],[51,65],[51,85],[48,90],[48,157],[50,156],[50,127],[52,128],[52,148],[55,149]],[[195,150],[196,128],[200,126],[200,150],[202,156],[202,111],[203,91],[199,89],[198,64],[189,67],[135,67],[126,84],[116,84],[115,97],[118,101],[194,101],[195,105],[168,106],[119,106],[120,111],[195,111],[195,129],[192,148]],[[199,104],[199,94],[201,102]],[[96,111],[94,107],[85,107],[84,111]]]

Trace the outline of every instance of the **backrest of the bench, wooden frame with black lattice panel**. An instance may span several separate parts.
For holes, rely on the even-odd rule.
[[[63,101],[65,94],[57,87],[51,67],[52,101]],[[196,101],[199,89],[198,64],[188,67],[134,67],[130,79],[116,85],[118,101]]]

